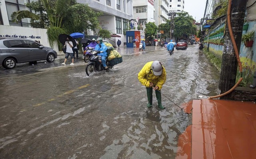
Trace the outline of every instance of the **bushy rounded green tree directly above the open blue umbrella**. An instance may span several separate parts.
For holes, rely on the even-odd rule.
[[[75,4],[70,6],[67,10],[70,13],[64,20],[64,28],[69,33],[80,32],[82,33],[85,29],[95,30],[99,28],[99,16],[101,12],[94,12],[88,4]]]

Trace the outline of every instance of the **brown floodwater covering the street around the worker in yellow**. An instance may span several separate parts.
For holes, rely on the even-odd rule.
[[[154,46],[117,51],[122,63],[90,77],[84,62],[32,73],[1,67],[0,158],[174,159],[191,116],[170,100],[183,108],[216,95],[218,70],[198,45],[173,55]],[[170,100],[162,96],[164,110],[154,91],[153,107],[146,107],[146,88],[138,81],[138,72],[154,60],[166,69],[162,93]]]

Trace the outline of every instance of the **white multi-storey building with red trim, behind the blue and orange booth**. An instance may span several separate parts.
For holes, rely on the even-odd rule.
[[[139,18],[139,24],[154,22],[156,26],[168,19],[168,0],[138,0],[133,4],[133,18]]]

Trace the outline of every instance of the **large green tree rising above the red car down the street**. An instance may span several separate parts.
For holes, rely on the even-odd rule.
[[[177,13],[174,18],[174,37],[180,38],[184,35],[190,36],[196,34],[196,26],[193,24],[194,19],[188,12]]]

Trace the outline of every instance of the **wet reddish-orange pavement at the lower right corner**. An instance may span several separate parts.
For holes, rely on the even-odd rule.
[[[253,159],[256,104],[234,100],[192,100],[184,108],[192,125],[180,135],[176,159]]]

